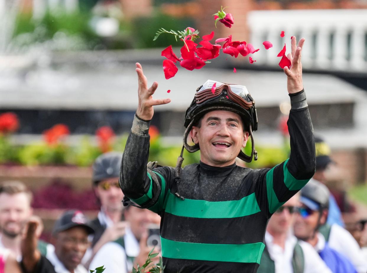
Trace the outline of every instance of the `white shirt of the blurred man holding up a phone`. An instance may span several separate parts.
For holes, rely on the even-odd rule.
[[[89,266],[95,269],[104,265],[106,270],[103,273],[127,273],[132,270],[132,263],[126,259],[129,257],[137,257],[140,251],[139,242],[132,233],[130,227],[126,227],[124,235],[125,249],[115,242],[104,244],[95,254]]]

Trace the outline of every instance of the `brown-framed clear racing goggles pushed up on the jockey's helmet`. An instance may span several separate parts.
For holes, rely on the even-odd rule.
[[[214,92],[212,91],[212,86],[216,84]],[[237,103],[244,109],[249,109],[255,104],[250,93],[247,91],[246,86],[236,85],[236,84],[224,84],[223,82],[217,82],[212,80],[207,80],[206,83],[201,86],[199,90],[196,91],[195,101],[196,104],[201,104],[206,100],[218,97],[226,89],[228,99]],[[246,100],[249,99],[250,101]]]

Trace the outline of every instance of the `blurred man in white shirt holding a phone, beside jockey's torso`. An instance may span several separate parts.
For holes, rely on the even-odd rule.
[[[152,247],[147,246],[147,226],[160,223],[160,216],[147,209],[127,206],[124,211],[128,223],[125,235],[119,240],[104,244],[90,264],[93,269],[105,265],[104,273],[131,272],[132,267],[143,265]],[[158,250],[157,250],[158,251]],[[155,257],[153,262],[158,262]]]

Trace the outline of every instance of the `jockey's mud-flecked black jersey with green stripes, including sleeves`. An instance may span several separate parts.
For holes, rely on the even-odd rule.
[[[288,128],[290,158],[272,169],[212,167],[202,162],[185,166],[179,186],[185,200],[171,193],[173,167],[157,167],[154,175],[147,172],[148,130],[130,133],[120,187],[139,205],[157,199],[149,209],[161,215],[165,272],[257,271],[268,219],[315,172],[308,107],[290,111]]]

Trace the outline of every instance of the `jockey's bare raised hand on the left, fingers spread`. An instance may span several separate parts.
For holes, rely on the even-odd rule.
[[[143,69],[140,63],[136,63],[136,69],[138,74],[138,96],[139,104],[137,109],[137,116],[141,119],[149,121],[153,118],[153,106],[167,104],[171,102],[171,99],[153,99],[152,95],[158,87],[158,82],[153,82],[152,86],[148,88],[148,80],[143,74]]]

